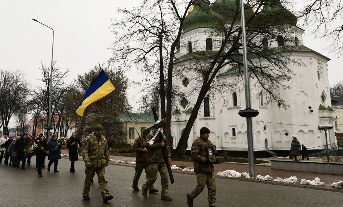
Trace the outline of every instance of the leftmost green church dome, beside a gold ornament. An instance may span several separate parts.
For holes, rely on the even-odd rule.
[[[182,33],[196,28],[218,28],[224,23],[221,15],[215,13],[209,2],[197,2],[194,9],[185,18]]]

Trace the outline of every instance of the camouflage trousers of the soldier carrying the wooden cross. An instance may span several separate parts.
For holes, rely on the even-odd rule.
[[[157,179],[157,171],[161,176],[162,191],[161,196],[168,195],[168,171],[165,163],[148,163],[146,166],[146,183],[142,186],[143,189],[152,189]]]

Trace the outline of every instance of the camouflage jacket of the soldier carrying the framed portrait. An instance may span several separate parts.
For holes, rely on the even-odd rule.
[[[213,146],[212,142],[202,137],[194,140],[192,144],[191,157],[193,158],[195,173],[214,172],[213,164],[205,164],[207,160],[206,147]]]

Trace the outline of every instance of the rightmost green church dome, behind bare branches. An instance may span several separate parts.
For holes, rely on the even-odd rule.
[[[261,26],[291,24],[296,26],[297,17],[283,7],[280,0],[265,0],[261,12],[256,14],[255,23]]]

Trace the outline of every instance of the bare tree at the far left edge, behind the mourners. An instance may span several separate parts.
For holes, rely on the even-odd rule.
[[[2,73],[0,115],[3,132],[8,131],[8,124],[14,113],[26,104],[31,85],[22,71],[4,71]]]

